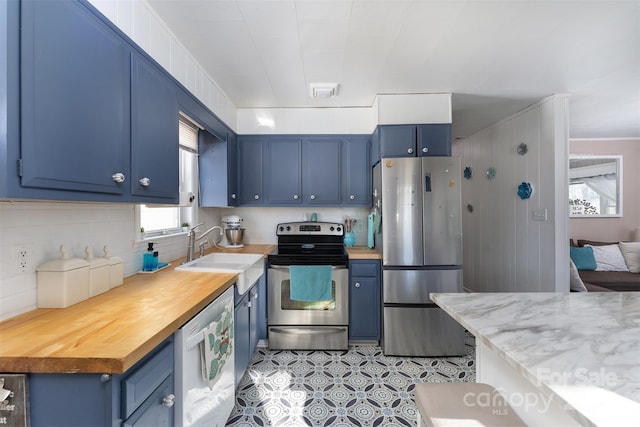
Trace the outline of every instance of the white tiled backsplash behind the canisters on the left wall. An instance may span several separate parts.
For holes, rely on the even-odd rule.
[[[134,206],[118,203],[67,203],[35,201],[0,202],[0,320],[37,307],[36,268],[59,258],[60,245],[69,256],[85,258],[90,246],[95,257],[103,256],[107,245],[112,256],[122,258],[124,274],[142,268],[147,243],[136,241]],[[207,218],[207,225],[218,219]],[[186,255],[185,234],[153,240],[160,261]],[[26,249],[27,267],[23,272],[18,252]]]

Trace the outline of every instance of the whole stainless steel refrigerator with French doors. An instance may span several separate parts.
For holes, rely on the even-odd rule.
[[[373,169],[386,355],[466,352],[464,329],[430,299],[462,292],[460,159],[384,158]]]

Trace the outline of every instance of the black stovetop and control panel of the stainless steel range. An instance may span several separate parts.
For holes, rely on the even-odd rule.
[[[278,224],[277,253],[269,255],[274,265],[346,265],[344,228],[333,222],[288,222]]]

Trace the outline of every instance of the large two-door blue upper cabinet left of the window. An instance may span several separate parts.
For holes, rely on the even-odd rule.
[[[7,104],[20,115],[7,114],[2,163],[16,172],[0,196],[177,203],[173,79],[85,1],[11,4],[20,28],[8,27],[7,54],[20,74],[7,67],[19,87]]]

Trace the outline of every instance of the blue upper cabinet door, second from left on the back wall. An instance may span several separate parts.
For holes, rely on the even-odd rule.
[[[267,142],[265,193],[271,205],[301,203],[300,139],[270,139]]]

